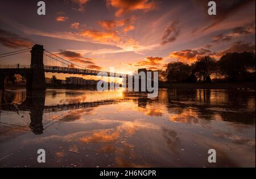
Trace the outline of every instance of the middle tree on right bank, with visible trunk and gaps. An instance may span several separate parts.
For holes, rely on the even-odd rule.
[[[198,78],[199,81],[211,82],[210,75],[216,72],[216,60],[210,56],[202,56],[197,59],[192,66],[192,74]]]

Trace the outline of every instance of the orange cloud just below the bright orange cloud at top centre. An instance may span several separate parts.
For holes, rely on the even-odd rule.
[[[105,30],[114,30],[114,28],[123,27],[123,32],[128,32],[134,30],[133,26],[135,17],[120,19],[120,20],[101,20],[98,24]]]

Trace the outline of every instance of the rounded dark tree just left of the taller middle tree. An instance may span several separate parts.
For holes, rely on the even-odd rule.
[[[169,82],[185,82],[191,76],[191,67],[182,62],[174,62],[167,65],[166,73]]]

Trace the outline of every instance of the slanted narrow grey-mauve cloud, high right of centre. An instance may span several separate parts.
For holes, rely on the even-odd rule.
[[[180,22],[179,20],[174,20],[174,22],[171,23],[171,25],[164,30],[164,35],[162,38],[161,45],[165,45],[167,43],[170,43],[172,41],[175,41],[177,36],[180,34]]]

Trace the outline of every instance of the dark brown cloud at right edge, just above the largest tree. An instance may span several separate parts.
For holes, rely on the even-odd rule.
[[[225,55],[226,53],[232,53],[232,52],[249,52],[249,51],[255,51],[255,44],[252,43],[245,43],[242,41],[236,41],[234,42],[228,49],[225,51],[221,51],[217,53],[217,56]]]

